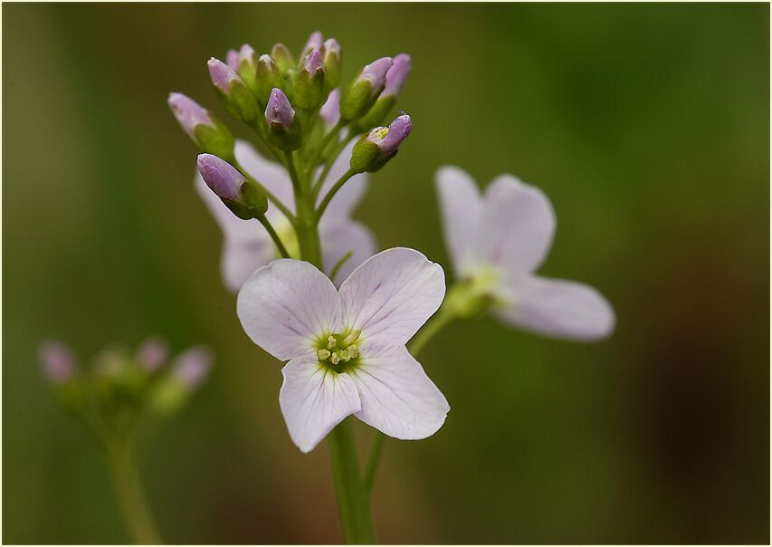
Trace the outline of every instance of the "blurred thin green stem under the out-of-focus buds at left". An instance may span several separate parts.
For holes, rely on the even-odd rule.
[[[143,544],[160,543],[129,446],[113,446],[108,458],[120,511],[134,541]]]

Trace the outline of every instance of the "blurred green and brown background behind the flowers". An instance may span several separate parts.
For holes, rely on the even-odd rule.
[[[769,541],[767,5],[4,5],[3,540],[127,542],[38,342],[166,336],[217,355],[150,446],[168,542],[339,542],[327,446],[291,444],[280,364],[244,335],[221,234],[167,110],[224,119],[205,61],[335,36],[344,77],[410,53],[402,153],[357,210],[447,264],[434,170],[543,188],[542,273],[613,302],[608,341],[456,324],[422,361],[453,411],[390,441],[381,542]],[[241,130],[232,124],[234,130]],[[242,132],[241,134],[246,135]],[[357,427],[362,444],[367,427]]]

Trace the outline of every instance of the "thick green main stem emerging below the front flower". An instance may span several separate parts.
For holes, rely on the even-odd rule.
[[[351,434],[350,418],[340,422],[329,434],[329,455],[332,459],[332,477],[338,497],[340,523],[348,544],[376,542],[370,516],[370,500],[359,475],[357,450]]]

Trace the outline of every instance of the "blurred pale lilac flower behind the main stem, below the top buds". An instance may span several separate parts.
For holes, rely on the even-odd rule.
[[[327,191],[348,170],[348,158],[351,156],[353,143],[348,145],[333,163],[329,175],[319,192],[319,201]],[[262,158],[252,145],[242,140],[236,141],[235,156],[243,168],[260,181],[272,194],[278,197],[292,213],[295,212],[295,200],[292,196],[292,183],[287,171],[278,163]],[[269,264],[279,254],[257,220],[241,220],[224,206],[214,195],[201,175],[196,173],[195,187],[204,199],[217,224],[224,232],[224,248],[221,260],[221,272],[224,283],[233,293],[238,292],[242,284],[256,269]],[[351,256],[340,267],[335,276],[339,284],[346,279],[354,268],[376,252],[376,244],[370,231],[362,224],[350,218],[367,187],[367,175],[361,174],[348,180],[338,194],[329,202],[329,207],[319,222],[323,262],[326,272],[351,251]],[[294,258],[300,258],[294,230],[290,221],[272,204],[265,215],[281,238],[281,242]]]

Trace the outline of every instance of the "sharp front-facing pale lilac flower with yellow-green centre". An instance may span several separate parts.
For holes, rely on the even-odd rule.
[[[391,437],[442,427],[447,400],[405,348],[443,302],[439,264],[413,249],[367,259],[340,290],[313,265],[281,259],[243,284],[237,312],[252,340],[279,360],[281,412],[310,451],[353,414]]]

